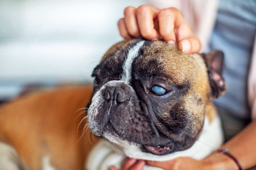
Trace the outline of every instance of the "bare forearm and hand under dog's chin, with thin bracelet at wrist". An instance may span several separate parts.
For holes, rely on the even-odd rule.
[[[252,121],[238,135],[226,142],[222,148],[228,148],[230,153],[237,158],[243,169],[256,166],[256,120]],[[137,161],[129,158],[123,165],[123,170],[141,170],[145,164],[166,170],[191,169],[191,170],[235,170],[238,169],[234,161],[227,155],[214,152],[203,160],[189,157],[179,157],[166,162]],[[111,167],[111,170],[118,170]]]

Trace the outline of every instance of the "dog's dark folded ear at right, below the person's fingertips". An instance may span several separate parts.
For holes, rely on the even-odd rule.
[[[206,65],[211,86],[211,99],[224,94],[226,84],[222,77],[224,54],[222,51],[212,50],[210,53],[201,54]]]

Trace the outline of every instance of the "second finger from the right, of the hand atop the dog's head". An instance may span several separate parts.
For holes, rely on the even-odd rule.
[[[159,33],[163,40],[169,44],[175,44],[176,38],[174,33],[174,14],[171,9],[160,10],[158,14]]]

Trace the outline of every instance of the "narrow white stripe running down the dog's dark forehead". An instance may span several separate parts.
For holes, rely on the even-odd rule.
[[[138,52],[139,52],[140,48],[143,46],[144,42],[145,42],[144,40],[141,40],[135,46],[133,46],[131,49],[129,49],[126,60],[123,65],[123,74],[122,74],[121,81],[125,81],[125,82],[129,83],[129,81],[131,79],[132,62],[135,58],[138,57]]]

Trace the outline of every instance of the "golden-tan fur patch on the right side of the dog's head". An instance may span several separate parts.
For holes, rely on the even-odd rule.
[[[164,70],[172,78],[171,82],[177,85],[186,82],[190,83],[190,90],[184,96],[187,110],[197,111],[197,114],[208,113],[208,104],[213,105],[211,104],[210,84],[208,82],[209,78],[205,61],[199,54],[186,55],[177,46],[171,46],[163,41],[153,41],[150,51],[146,49],[143,53],[148,53],[148,55],[145,55],[145,63],[154,57],[161,63],[164,63]],[[198,94],[198,96],[193,96],[193,94]],[[195,97],[200,97],[201,104],[195,105],[195,102],[193,102]],[[211,112],[209,120],[216,116],[214,109]],[[204,116],[201,115],[198,115],[197,118],[200,119],[201,123],[204,120]],[[194,126],[197,130],[201,129],[199,123],[195,123]]]

